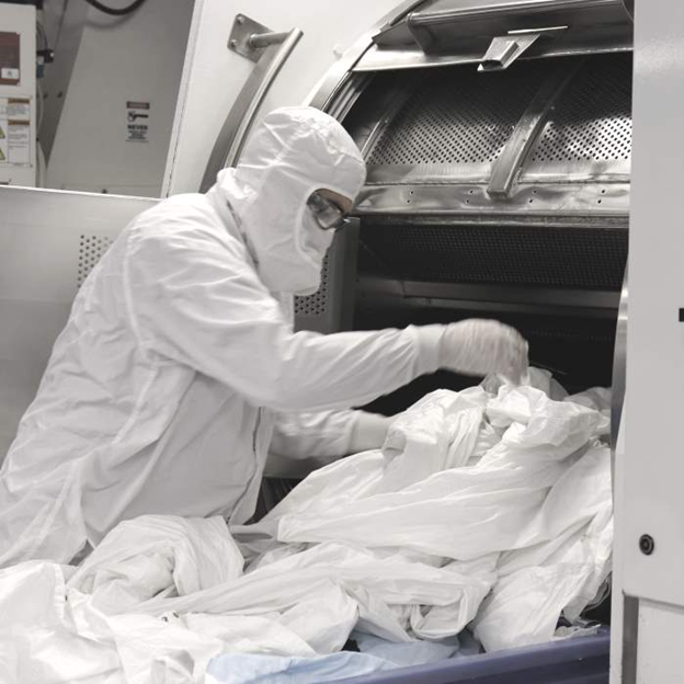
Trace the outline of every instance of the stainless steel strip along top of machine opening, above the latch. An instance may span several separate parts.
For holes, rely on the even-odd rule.
[[[428,54],[479,49],[510,31],[568,26],[552,43],[565,49],[586,44],[624,45],[631,39],[631,22],[622,0],[436,0],[411,12],[408,27]],[[551,43],[539,42],[543,55]],[[557,46],[555,46],[558,49]]]

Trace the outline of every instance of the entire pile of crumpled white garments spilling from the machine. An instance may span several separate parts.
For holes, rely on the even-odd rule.
[[[239,544],[218,518],[144,516],[76,570],[0,571],[0,681],[256,682],[281,668],[305,682],[353,630],[408,645],[470,625],[489,651],[554,638],[604,585],[613,518],[607,392],[545,389],[426,396],[383,451],[312,474],[235,529]],[[311,681],[388,666],[334,658]]]

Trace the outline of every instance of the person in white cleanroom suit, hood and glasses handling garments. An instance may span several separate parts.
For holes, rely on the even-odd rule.
[[[365,180],[342,126],[276,110],[206,194],[135,218],[81,287],[0,472],[0,565],[68,562],[147,513],[252,515],[269,451],[379,447],[350,411],[440,367],[510,377],[525,341],[494,321],[294,332]]]

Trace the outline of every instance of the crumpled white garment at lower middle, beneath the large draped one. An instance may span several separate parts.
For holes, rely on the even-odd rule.
[[[355,626],[392,641],[438,639],[458,634],[475,617],[495,579],[493,560],[437,568],[400,552],[377,555],[329,542],[282,556],[235,582],[155,598],[138,611],[280,615],[275,619],[319,653],[340,650]]]

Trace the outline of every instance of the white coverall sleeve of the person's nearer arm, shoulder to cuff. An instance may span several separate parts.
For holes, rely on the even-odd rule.
[[[362,406],[437,369],[441,326],[293,332],[243,244],[187,218],[164,226],[133,236],[124,272],[132,324],[160,356],[289,411]]]

